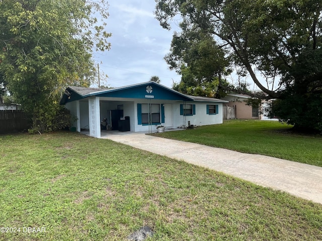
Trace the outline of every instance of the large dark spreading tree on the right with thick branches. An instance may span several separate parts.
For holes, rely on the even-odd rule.
[[[180,14],[188,30],[209,34],[232,64],[278,99],[274,111],[283,121],[322,130],[321,9],[321,0],[156,0],[155,14],[164,28]]]

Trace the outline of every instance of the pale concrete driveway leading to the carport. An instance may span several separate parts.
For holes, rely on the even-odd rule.
[[[207,167],[322,204],[322,168],[262,155],[134,132],[102,132],[104,139]]]

